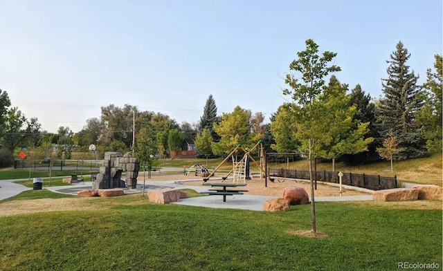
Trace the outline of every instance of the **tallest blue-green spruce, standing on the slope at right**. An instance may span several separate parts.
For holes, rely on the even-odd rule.
[[[388,79],[383,79],[384,97],[376,108],[379,144],[392,131],[398,140],[401,151],[395,160],[422,157],[426,154],[426,140],[422,136],[422,125],[415,114],[424,104],[422,88],[417,85],[418,76],[409,71],[406,65],[410,57],[408,49],[399,41],[397,49],[391,53],[388,66]]]

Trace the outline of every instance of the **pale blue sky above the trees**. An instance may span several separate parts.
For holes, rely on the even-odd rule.
[[[0,88],[50,132],[109,104],[197,122],[210,94],[219,114],[267,119],[306,39],[372,97],[399,40],[420,83],[442,53],[440,0],[0,0],[0,13]]]

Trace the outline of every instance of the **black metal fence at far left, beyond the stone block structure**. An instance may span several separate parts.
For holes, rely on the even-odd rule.
[[[35,170],[93,170],[98,169],[102,161],[87,160],[14,160],[14,169],[35,169]]]

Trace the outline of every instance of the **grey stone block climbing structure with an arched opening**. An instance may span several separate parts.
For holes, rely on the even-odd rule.
[[[116,151],[107,151],[100,173],[92,183],[92,189],[125,187],[125,182],[128,188],[136,188],[139,169],[140,162],[132,156],[132,153],[128,152],[122,156]],[[126,171],[125,182],[121,180],[124,171]]]

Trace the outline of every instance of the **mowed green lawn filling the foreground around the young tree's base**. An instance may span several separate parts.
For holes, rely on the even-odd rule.
[[[325,238],[293,234],[310,229],[310,205],[269,213],[154,205],[141,196],[87,203],[96,210],[0,217],[0,270],[378,271],[404,261],[442,268],[441,202],[317,203]]]

